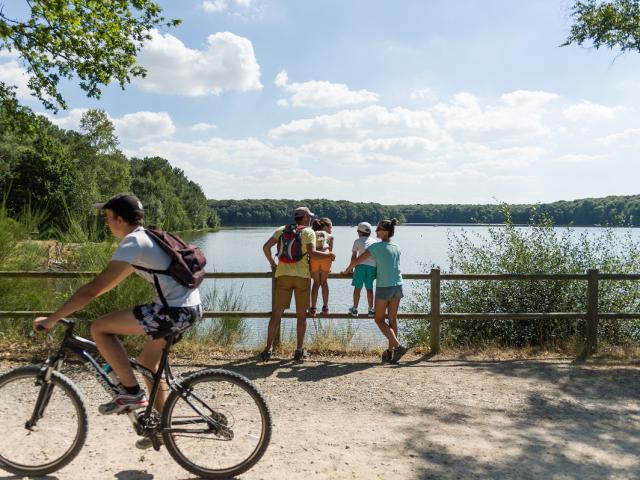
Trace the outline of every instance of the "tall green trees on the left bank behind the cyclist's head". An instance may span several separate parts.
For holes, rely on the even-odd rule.
[[[8,115],[0,105],[0,202],[10,217],[35,215],[41,237],[86,230],[98,220],[93,203],[132,192],[145,206],[147,224],[218,226],[200,185],[164,158],[127,158],[103,111],[87,111],[80,130],[61,129],[27,108]]]

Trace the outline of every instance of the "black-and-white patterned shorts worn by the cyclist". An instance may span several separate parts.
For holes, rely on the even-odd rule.
[[[165,307],[158,303],[148,303],[134,307],[133,316],[154,340],[178,334],[174,339],[177,342],[187,328],[202,318],[202,305]]]

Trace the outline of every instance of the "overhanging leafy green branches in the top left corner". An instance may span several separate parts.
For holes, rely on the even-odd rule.
[[[62,78],[77,76],[89,97],[101,86],[144,77],[136,54],[157,26],[176,26],[152,0],[27,0],[29,18],[12,18],[0,8],[0,50],[15,51],[29,74],[29,89],[54,111],[67,104],[58,90]],[[15,101],[11,85],[0,82],[0,104]]]

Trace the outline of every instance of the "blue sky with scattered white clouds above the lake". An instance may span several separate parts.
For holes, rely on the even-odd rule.
[[[148,70],[88,99],[128,156],[162,156],[207,198],[537,203],[633,195],[640,52],[560,47],[569,0],[160,1]],[[0,52],[0,80],[28,95]]]

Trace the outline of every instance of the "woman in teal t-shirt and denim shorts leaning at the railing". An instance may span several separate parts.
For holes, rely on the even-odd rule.
[[[369,246],[366,252],[351,260],[343,273],[350,272],[356,265],[368,258],[376,259],[376,301],[375,321],[378,328],[389,341],[389,348],[382,354],[383,362],[398,363],[407,352],[398,341],[398,309],[402,293],[402,273],[400,272],[400,248],[391,242],[398,224],[395,218],[382,220],[376,228],[376,236],[381,240]],[[385,322],[388,315],[389,323]]]

